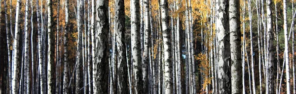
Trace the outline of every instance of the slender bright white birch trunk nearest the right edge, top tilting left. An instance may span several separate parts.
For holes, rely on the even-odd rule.
[[[287,23],[287,2],[283,2],[284,12],[284,37],[285,37],[285,63],[286,63],[286,89],[287,94],[290,94],[290,64],[289,64],[289,43],[288,43],[288,23]]]

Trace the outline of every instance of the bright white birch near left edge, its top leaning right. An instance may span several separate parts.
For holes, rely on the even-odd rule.
[[[18,94],[18,85],[19,85],[19,71],[20,71],[20,51],[19,51],[19,39],[21,32],[19,31],[19,25],[20,25],[20,11],[21,11],[21,0],[17,0],[16,4],[16,15],[15,15],[15,32],[14,32],[14,42],[13,42],[13,50],[14,50],[14,56],[13,56],[13,75],[12,75],[12,94]]]

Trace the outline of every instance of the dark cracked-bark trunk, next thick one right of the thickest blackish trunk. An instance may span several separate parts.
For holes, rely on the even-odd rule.
[[[127,94],[128,92],[128,73],[126,60],[126,44],[125,44],[125,18],[124,0],[115,0],[115,26],[117,39],[117,94]],[[108,19],[107,19],[108,21]],[[109,50],[108,50],[109,51]]]

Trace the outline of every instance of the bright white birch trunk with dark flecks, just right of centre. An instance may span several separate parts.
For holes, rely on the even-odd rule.
[[[163,51],[164,51],[164,87],[165,93],[173,93],[173,71],[172,71],[172,49],[171,49],[171,34],[169,27],[168,16],[168,0],[161,0],[161,23],[162,23],[162,36],[163,36]]]

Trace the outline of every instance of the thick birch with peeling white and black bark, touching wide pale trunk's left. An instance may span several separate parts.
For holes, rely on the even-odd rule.
[[[220,3],[222,2],[222,3]],[[216,2],[216,21],[218,37],[218,86],[219,94],[231,93],[230,78],[230,44],[229,44],[229,21],[228,21],[228,1],[219,0]]]

